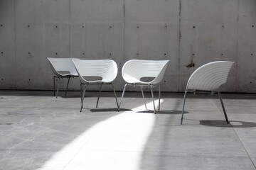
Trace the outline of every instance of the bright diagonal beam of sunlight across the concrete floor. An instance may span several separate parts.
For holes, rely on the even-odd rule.
[[[93,125],[37,170],[139,169],[156,115],[136,113],[145,110],[144,104],[132,110]]]

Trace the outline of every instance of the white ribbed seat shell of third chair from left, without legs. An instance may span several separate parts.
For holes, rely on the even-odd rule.
[[[127,83],[158,84],[164,77],[169,60],[129,60],[122,67],[122,77]],[[144,82],[142,78],[151,77]]]

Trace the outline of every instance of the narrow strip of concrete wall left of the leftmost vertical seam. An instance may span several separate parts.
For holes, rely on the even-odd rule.
[[[14,1],[0,1],[0,86],[16,89]]]

